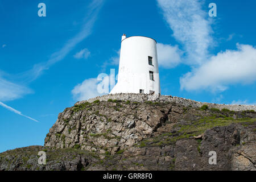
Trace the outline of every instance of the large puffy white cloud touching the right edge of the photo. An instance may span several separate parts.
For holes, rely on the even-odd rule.
[[[237,44],[237,50],[226,50],[180,78],[181,89],[224,91],[231,84],[250,84],[256,80],[256,49]]]

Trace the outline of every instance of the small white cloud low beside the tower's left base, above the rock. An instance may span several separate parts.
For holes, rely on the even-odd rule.
[[[73,98],[77,101],[88,100],[89,98],[102,96],[103,94],[98,93],[97,86],[101,81],[97,78],[88,78],[81,84],[75,86],[71,91]]]

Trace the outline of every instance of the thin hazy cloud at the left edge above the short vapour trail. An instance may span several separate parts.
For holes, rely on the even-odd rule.
[[[0,76],[0,101],[10,101],[32,93],[26,86],[15,84]]]

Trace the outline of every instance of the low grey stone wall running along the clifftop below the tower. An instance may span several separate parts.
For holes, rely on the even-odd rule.
[[[157,96],[157,95],[148,95],[148,94],[135,94],[135,93],[118,93],[118,94],[108,94],[105,96],[98,96],[95,98],[90,98],[86,101],[77,102],[75,105],[82,104],[84,102],[93,102],[95,100],[100,101],[108,101],[112,100],[123,100],[123,101],[131,101],[131,102],[144,102],[144,101],[152,101],[152,102],[175,102],[177,104],[183,106],[192,107],[201,107],[203,105],[208,105],[209,108],[217,108],[217,109],[229,109],[234,111],[243,111],[243,110],[255,110],[256,105],[225,105],[225,104],[213,104],[208,102],[198,102],[189,100],[186,98],[175,97],[175,96]]]

